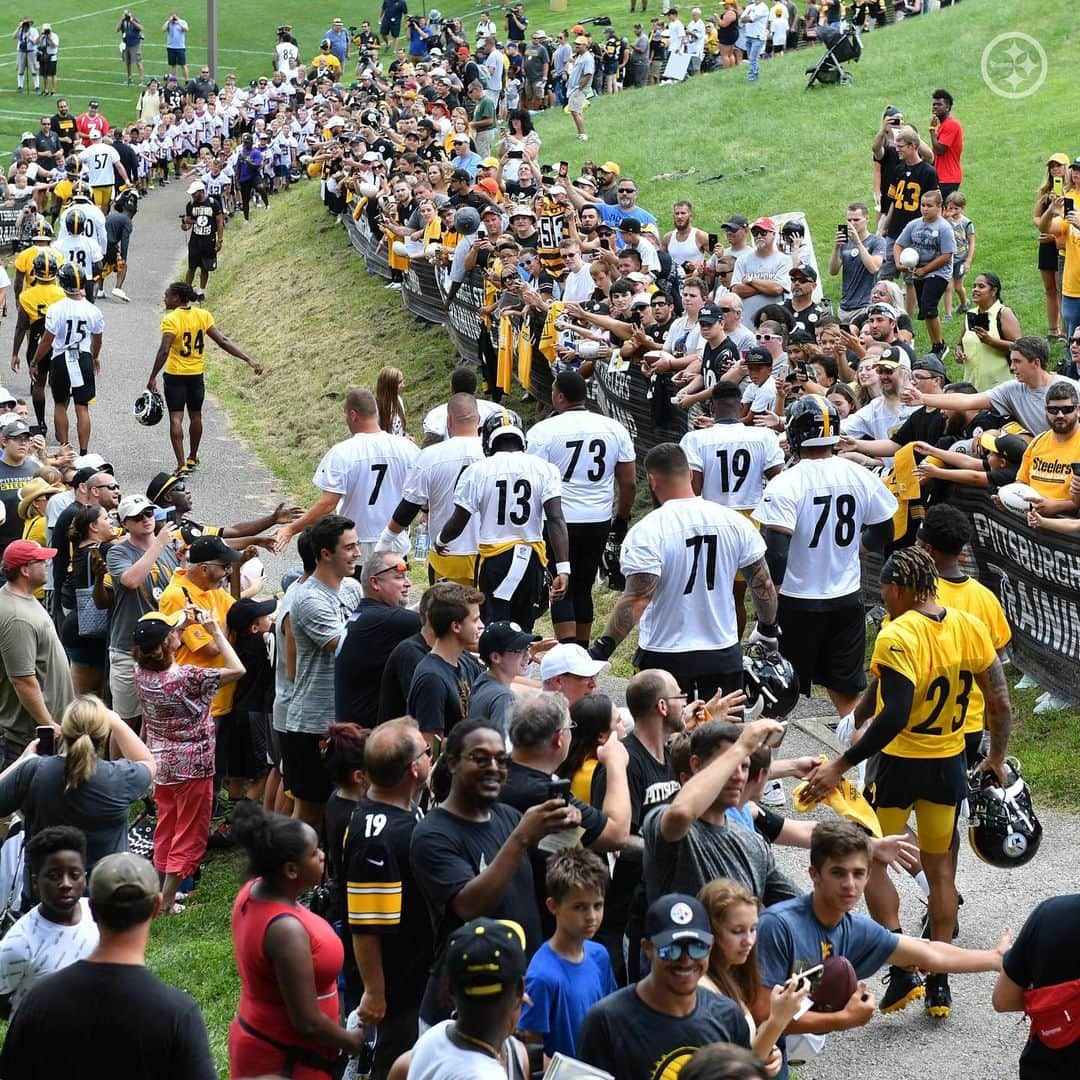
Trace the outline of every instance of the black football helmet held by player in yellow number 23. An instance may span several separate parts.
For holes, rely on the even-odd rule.
[[[1020,761],[1005,758],[1005,785],[976,766],[968,773],[968,841],[990,866],[1011,869],[1035,858],[1042,842],[1042,825],[1031,806],[1031,791],[1020,772]]]

